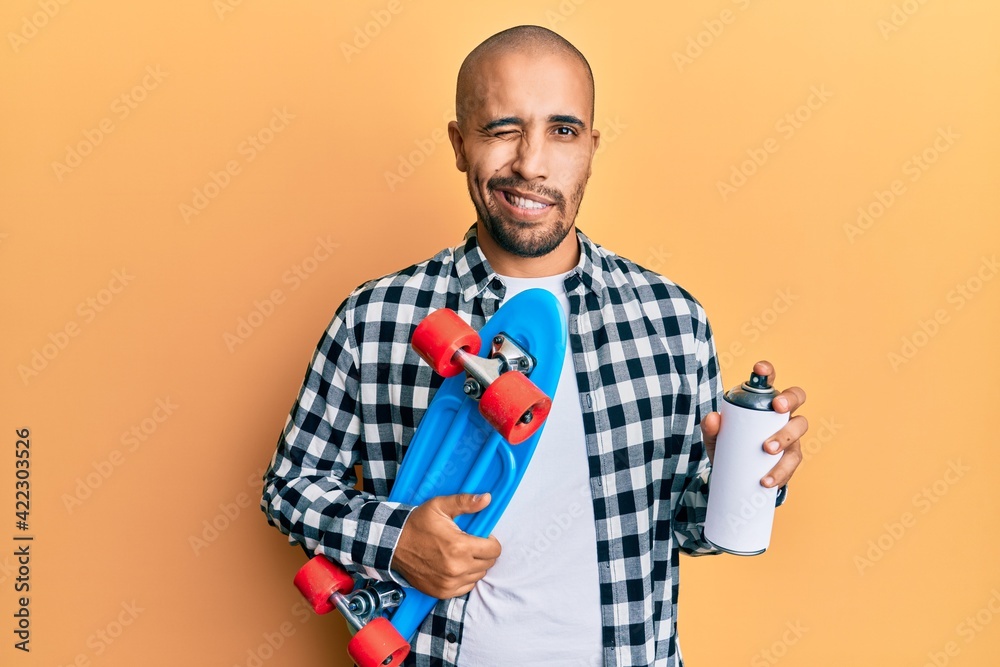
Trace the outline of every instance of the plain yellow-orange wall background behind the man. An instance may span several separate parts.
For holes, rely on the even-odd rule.
[[[772,548],[683,560],[688,664],[997,664],[1000,6],[391,8],[3,3],[3,664],[347,664],[340,619],[303,612],[259,475],[347,292],[474,219],[440,130],[462,58],[519,23],[594,68],[580,227],[703,302],[724,384],[768,358],[809,392]],[[70,148],[87,154],[55,166]],[[751,175],[723,196],[734,169]],[[196,190],[214,196],[185,216]],[[241,318],[259,326],[234,343]],[[12,646],[24,427],[30,654]]]

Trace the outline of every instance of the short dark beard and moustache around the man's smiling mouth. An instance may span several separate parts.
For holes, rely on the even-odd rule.
[[[516,176],[494,176],[486,183],[487,191],[490,192],[490,200],[480,201],[476,196],[480,192],[477,185],[478,183],[474,183],[472,179],[469,180],[469,195],[472,197],[472,203],[479,219],[496,244],[518,257],[542,257],[559,247],[559,244],[573,229],[576,211],[579,210],[580,201],[583,199],[586,181],[580,183],[570,198],[569,205],[572,206],[572,217],[566,215],[566,197],[558,190],[531,187],[526,181]],[[500,205],[493,201],[492,196],[493,193],[497,192],[497,188],[514,188],[550,199],[559,216],[551,223],[523,222],[510,218],[501,211]],[[502,197],[503,195],[497,196]]]

